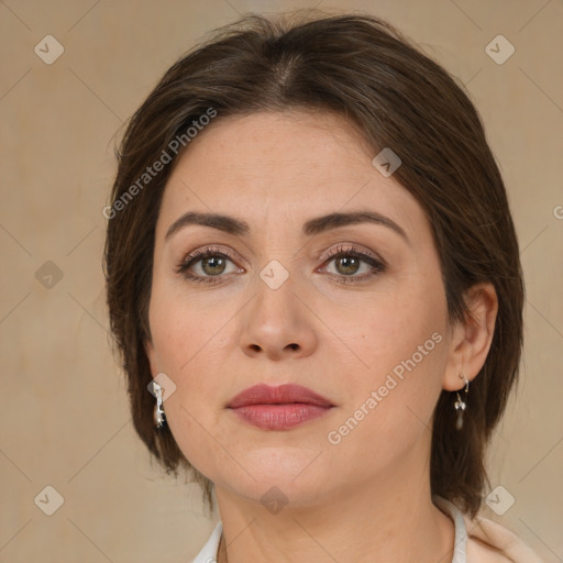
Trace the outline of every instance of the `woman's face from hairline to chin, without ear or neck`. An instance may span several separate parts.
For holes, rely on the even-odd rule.
[[[179,448],[247,499],[420,477],[453,369],[422,208],[336,115],[219,120],[177,163],[156,225],[147,351],[176,385],[164,409]],[[327,404],[229,407],[257,384]]]

